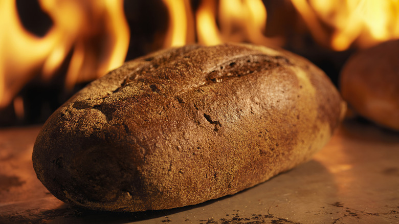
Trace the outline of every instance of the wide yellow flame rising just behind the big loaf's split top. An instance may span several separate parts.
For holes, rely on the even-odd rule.
[[[218,22],[216,24],[216,8]],[[204,0],[196,13],[198,42],[214,45],[222,42],[252,42],[281,46],[282,38],[268,38],[267,10],[261,0]]]

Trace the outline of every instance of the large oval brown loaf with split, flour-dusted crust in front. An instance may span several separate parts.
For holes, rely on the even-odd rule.
[[[173,48],[126,62],[58,108],[37,137],[33,166],[73,205],[183,207],[308,161],[344,111],[327,76],[292,53]]]

